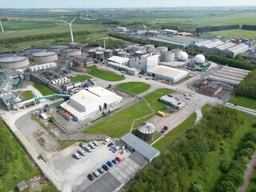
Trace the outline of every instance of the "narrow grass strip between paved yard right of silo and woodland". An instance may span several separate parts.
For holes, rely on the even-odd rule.
[[[197,114],[191,114],[189,118],[186,118],[186,120],[182,122],[182,124],[178,125],[174,130],[171,130],[168,134],[166,134],[165,138],[162,138],[158,142],[154,143],[154,148],[164,151],[167,149],[167,146],[170,146],[179,138],[185,137],[186,130],[193,127],[196,118]]]

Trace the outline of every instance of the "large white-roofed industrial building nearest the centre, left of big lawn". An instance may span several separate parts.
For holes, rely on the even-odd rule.
[[[122,102],[122,97],[100,86],[80,90],[62,103],[61,108],[66,110],[75,121],[81,121],[94,112],[102,112]]]

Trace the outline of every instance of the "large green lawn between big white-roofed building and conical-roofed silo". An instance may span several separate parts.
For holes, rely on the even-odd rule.
[[[113,138],[121,138],[124,134],[127,134],[130,131],[130,127],[135,119],[142,118],[136,121],[134,127],[139,123],[145,122],[147,119],[152,118],[158,110],[162,110],[166,105],[162,102],[158,102],[158,98],[162,94],[172,94],[174,90],[169,89],[160,89],[154,91],[150,94],[147,94],[144,99],[150,104],[154,109],[150,110],[150,107],[147,106],[146,102],[138,102],[134,106],[130,106],[126,110],[122,110],[118,114],[114,114],[110,118],[98,123],[95,126],[90,127],[88,130],[83,131],[83,133],[103,133],[110,135]],[[135,112],[134,112],[135,111]],[[146,115],[149,115],[147,118],[143,118]]]

